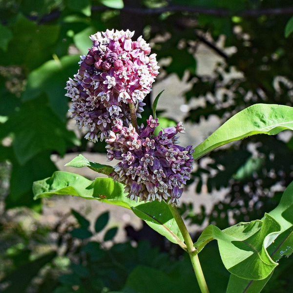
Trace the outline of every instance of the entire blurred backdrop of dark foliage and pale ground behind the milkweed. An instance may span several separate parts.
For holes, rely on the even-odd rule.
[[[69,118],[66,81],[89,35],[135,30],[161,67],[141,122],[165,90],[161,126],[184,121],[181,144],[196,146],[250,105],[292,106],[292,15],[290,0],[0,0],[0,292],[198,292],[186,255],[127,210],[33,200],[33,182],[57,169],[98,176],[64,167],[76,155],[105,163],[105,144],[84,140]],[[199,159],[179,208],[194,239],[210,223],[225,229],[273,209],[293,179],[292,157],[285,131]],[[224,292],[216,243],[200,258],[210,291]],[[292,265],[280,261],[264,292],[293,292]]]

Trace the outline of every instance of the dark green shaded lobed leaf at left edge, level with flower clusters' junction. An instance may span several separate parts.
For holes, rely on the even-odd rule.
[[[0,138],[14,134],[13,149],[21,165],[44,150],[65,154],[69,146],[79,145],[72,131],[46,105],[45,99],[24,103],[8,121],[0,125]]]

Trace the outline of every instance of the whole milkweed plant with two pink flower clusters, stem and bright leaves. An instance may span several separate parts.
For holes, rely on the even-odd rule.
[[[35,198],[55,194],[96,199],[131,209],[138,217],[187,251],[201,292],[209,292],[198,254],[217,240],[224,266],[230,272],[228,293],[260,292],[283,256],[293,252],[293,183],[279,205],[262,219],[238,223],[225,230],[206,227],[193,243],[177,210],[194,160],[213,149],[254,134],[275,135],[293,130],[293,108],[286,105],[252,105],[232,116],[196,147],[181,146],[182,122],[158,128],[156,105],[145,123],[138,125],[144,98],[158,75],[156,54],[134,32],[106,30],[90,36],[92,47],[81,56],[78,72],[65,89],[72,101],[69,111],[85,139],[105,140],[108,161],[114,166],[88,161],[79,155],[66,166],[89,167],[106,174],[90,181],[57,171],[34,183]],[[232,162],[231,162],[232,164]]]

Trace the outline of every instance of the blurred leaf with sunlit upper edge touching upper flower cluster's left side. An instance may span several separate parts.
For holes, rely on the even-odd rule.
[[[26,90],[22,93],[22,100],[28,101],[46,93],[50,106],[54,112],[64,120],[68,111],[68,99],[64,96],[66,81],[78,70],[80,57],[77,55],[64,56],[60,60],[47,61],[33,70],[27,79]]]

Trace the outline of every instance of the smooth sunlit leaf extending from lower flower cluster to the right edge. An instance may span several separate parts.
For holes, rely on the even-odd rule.
[[[252,105],[231,117],[204,142],[194,148],[198,159],[211,150],[254,134],[274,135],[293,130],[293,107],[284,105]]]

